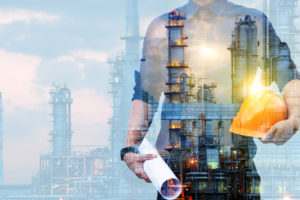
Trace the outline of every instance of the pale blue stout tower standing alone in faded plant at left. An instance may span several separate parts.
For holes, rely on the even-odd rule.
[[[54,85],[50,91],[52,105],[53,130],[52,154],[70,155],[71,154],[71,92],[67,87]]]

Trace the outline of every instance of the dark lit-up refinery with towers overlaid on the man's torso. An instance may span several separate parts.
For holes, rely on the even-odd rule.
[[[254,77],[259,59],[256,21],[249,15],[237,18],[232,43],[232,104],[216,103],[217,84],[196,77],[185,62],[185,17],[169,13],[168,90],[162,120],[169,121],[170,143],[164,158],[180,178],[184,190],[181,199],[259,199],[260,178],[253,163],[256,145],[252,138],[229,132],[231,121],[245,97],[245,82]],[[264,81],[276,81],[280,88],[295,77],[295,65],[286,43],[280,42],[268,27]],[[250,80],[248,80],[249,82]],[[151,122],[157,102],[149,98]],[[228,136],[230,136],[228,138]],[[226,140],[230,140],[231,145]],[[276,195],[273,195],[274,198]],[[282,198],[282,194],[281,197]]]

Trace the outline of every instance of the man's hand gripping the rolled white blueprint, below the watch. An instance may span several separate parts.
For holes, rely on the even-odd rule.
[[[129,152],[125,154],[124,161],[137,177],[150,183],[151,181],[143,169],[143,164],[146,160],[152,160],[156,157],[157,155],[153,154],[136,154]]]

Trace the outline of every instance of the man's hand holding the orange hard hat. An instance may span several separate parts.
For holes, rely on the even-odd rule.
[[[261,139],[263,143],[283,145],[295,134],[295,120],[287,119],[275,124]]]

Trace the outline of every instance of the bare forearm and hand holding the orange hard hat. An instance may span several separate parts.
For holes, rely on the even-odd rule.
[[[299,129],[300,125],[300,80],[288,82],[283,88],[283,97],[287,104],[288,118],[275,124],[262,138],[262,142],[277,145],[286,143]]]

